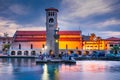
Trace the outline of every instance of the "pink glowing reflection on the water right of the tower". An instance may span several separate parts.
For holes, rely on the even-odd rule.
[[[106,67],[106,62],[101,62],[100,64],[96,61],[82,61],[76,65],[65,65],[62,64],[60,71],[62,72],[104,72]]]

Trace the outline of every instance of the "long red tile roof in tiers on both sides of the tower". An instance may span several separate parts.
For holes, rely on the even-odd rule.
[[[80,31],[60,31],[60,35],[80,35]],[[15,42],[46,41],[46,31],[16,31]],[[80,38],[60,38],[60,41],[80,41]]]

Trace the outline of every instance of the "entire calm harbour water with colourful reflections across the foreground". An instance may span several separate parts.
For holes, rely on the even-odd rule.
[[[34,59],[0,59],[0,80],[120,80],[119,61],[39,64]]]

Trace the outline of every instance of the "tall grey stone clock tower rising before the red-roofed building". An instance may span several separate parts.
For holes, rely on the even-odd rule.
[[[46,46],[47,46],[47,53],[52,51],[55,53],[55,30],[58,28],[57,22],[57,12],[58,9],[55,8],[47,8],[46,11]],[[59,45],[58,45],[59,46]]]

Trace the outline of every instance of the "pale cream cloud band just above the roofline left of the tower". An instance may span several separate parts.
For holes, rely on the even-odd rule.
[[[16,30],[45,30],[43,26],[34,26],[34,25],[20,25],[13,20],[7,20],[0,17],[0,36],[3,36],[3,33],[8,33],[9,36],[13,36]]]

